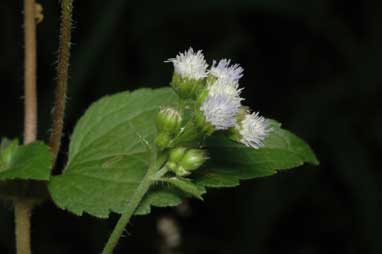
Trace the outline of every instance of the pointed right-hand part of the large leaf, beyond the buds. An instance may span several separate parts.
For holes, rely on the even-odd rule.
[[[272,132],[260,149],[235,143],[224,135],[213,135],[208,140],[211,159],[193,175],[195,182],[205,187],[233,187],[240,180],[273,175],[304,163],[318,164],[309,145],[276,121],[269,121]]]

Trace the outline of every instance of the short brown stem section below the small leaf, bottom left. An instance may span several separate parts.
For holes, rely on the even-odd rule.
[[[17,199],[15,206],[16,252],[17,254],[31,254],[31,211],[33,203],[29,200]]]

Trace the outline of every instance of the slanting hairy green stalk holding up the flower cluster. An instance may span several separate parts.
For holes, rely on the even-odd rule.
[[[157,177],[160,177],[167,172],[167,168],[165,167],[157,171],[156,174],[155,174],[155,170],[156,170],[156,167],[154,165],[151,168],[149,168],[149,170],[147,171],[142,182],[139,184],[138,188],[136,189],[133,196],[129,200],[129,203],[127,204],[127,207],[126,207],[126,212],[122,214],[121,218],[117,222],[117,225],[114,227],[113,232],[111,233],[109,240],[107,241],[105,248],[102,251],[102,254],[113,253],[113,250],[115,249],[119,238],[121,238],[122,236],[123,230],[125,229],[126,225],[129,223],[130,218],[134,215],[134,212],[136,211],[137,207],[141,203],[144,195],[147,193],[150,186],[157,179]]]

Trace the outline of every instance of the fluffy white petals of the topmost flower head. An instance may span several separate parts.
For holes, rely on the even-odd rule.
[[[201,50],[194,52],[192,48],[184,53],[179,53],[176,58],[170,58],[166,62],[174,64],[175,73],[182,78],[203,79],[207,77],[208,64]]]

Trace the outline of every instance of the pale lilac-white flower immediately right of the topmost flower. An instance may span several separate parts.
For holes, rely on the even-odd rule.
[[[243,76],[244,69],[238,64],[230,65],[231,60],[222,59],[216,65],[216,61],[212,62],[209,73],[218,79],[227,79],[231,82],[238,83]]]

